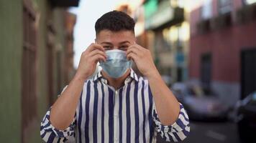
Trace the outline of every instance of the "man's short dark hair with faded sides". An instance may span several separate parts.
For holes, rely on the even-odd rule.
[[[122,11],[110,11],[101,16],[95,23],[96,35],[101,30],[132,31],[134,33],[134,19]]]

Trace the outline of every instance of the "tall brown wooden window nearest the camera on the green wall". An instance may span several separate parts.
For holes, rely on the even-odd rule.
[[[36,100],[36,30],[35,11],[29,1],[23,2],[22,47],[22,140],[25,131],[37,116]]]

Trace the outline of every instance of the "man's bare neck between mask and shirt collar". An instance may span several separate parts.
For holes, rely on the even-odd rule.
[[[114,87],[114,89],[119,89],[120,87],[124,86],[124,81],[127,79],[131,72],[131,69],[128,69],[127,72],[122,76],[117,79],[114,79],[112,77],[109,77],[109,75],[106,74],[106,72],[101,71],[102,76],[108,81],[108,84],[111,87]]]

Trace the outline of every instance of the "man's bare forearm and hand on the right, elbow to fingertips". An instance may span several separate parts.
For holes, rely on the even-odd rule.
[[[127,49],[127,59],[132,59],[140,72],[147,77],[160,122],[164,125],[173,124],[178,119],[180,105],[163,82],[155,67],[150,50],[138,44],[133,44]]]

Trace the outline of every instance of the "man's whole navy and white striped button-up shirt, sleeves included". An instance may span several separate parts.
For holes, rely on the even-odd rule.
[[[76,115],[67,129],[52,126],[50,109],[40,127],[45,142],[155,142],[157,134],[167,142],[179,142],[189,132],[182,104],[174,124],[161,124],[147,79],[133,70],[117,90],[99,72],[85,82]]]

